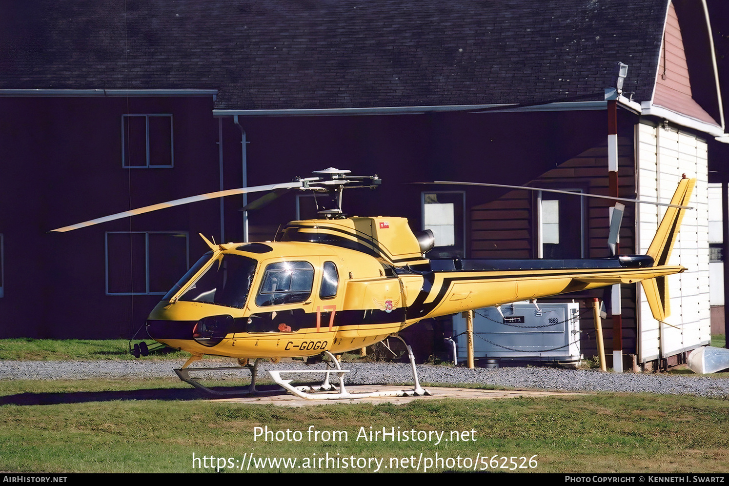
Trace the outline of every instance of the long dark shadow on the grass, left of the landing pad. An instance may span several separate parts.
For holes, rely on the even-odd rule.
[[[225,398],[238,398],[247,396],[246,388],[212,388],[216,391],[225,391]],[[240,393],[235,393],[240,389]],[[276,385],[258,385],[257,396],[269,396],[281,394],[283,391]],[[69,393],[15,393],[0,397],[0,405],[57,405],[57,404],[79,404],[93,401],[114,401],[114,400],[165,400],[165,401],[190,401],[201,399],[221,399],[223,396],[213,396],[203,393],[195,388],[148,388],[142,390],[117,390],[117,391],[74,391]]]

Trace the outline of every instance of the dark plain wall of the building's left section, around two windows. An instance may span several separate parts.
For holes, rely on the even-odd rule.
[[[219,232],[219,219],[210,217],[217,216],[217,202],[74,232],[48,231],[217,190],[212,98],[5,97],[0,98],[0,113],[0,337],[130,337],[162,296],[107,294],[108,261],[120,268],[128,264],[128,275],[139,276],[145,269],[144,256],[124,260],[110,254],[107,260],[106,232],[187,232],[194,263],[206,248],[197,231]],[[174,168],[122,167],[122,114],[172,115]],[[156,264],[174,269],[181,259],[187,264],[184,246],[162,248],[155,256]],[[117,289],[126,285],[123,280]]]

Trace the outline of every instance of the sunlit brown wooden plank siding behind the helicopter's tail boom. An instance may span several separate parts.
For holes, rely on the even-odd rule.
[[[634,140],[623,133],[618,137],[618,186],[620,197],[635,197]],[[608,195],[607,128],[604,144],[594,146],[558,165],[527,184],[546,189],[582,189],[596,195]],[[471,258],[536,258],[537,193],[514,190],[489,203],[470,208]],[[577,200],[577,197],[575,197]],[[585,258],[609,256],[610,200],[585,198],[582,235]],[[580,235],[574,235],[580,238]],[[620,253],[635,253],[635,208],[625,205],[620,229]],[[573,292],[566,296],[543,299],[565,302],[575,299],[580,306],[580,344],[585,356],[595,356],[597,345],[591,312],[591,299],[604,299],[606,290]],[[636,286],[623,285],[623,353],[636,353]],[[612,350],[612,321],[603,321],[605,348]]]

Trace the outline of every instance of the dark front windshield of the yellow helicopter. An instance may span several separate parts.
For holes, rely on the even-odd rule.
[[[171,299],[179,289],[198,273],[200,268],[210,263],[212,252],[208,252],[195,263],[178,283],[165,295]],[[188,302],[207,302],[242,309],[246,305],[251,284],[256,271],[257,261],[242,255],[219,255],[207,270],[192,283],[178,300]]]

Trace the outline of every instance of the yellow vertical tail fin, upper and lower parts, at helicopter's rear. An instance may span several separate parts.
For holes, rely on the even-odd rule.
[[[696,179],[681,179],[679,181],[679,187],[671,199],[671,204],[687,205],[695,184]],[[671,257],[671,251],[674,249],[674,243],[676,243],[685,212],[685,208],[669,207],[666,209],[666,214],[663,215],[663,219],[658,225],[658,231],[655,232],[655,237],[653,237],[646,252],[646,254],[653,257],[654,267],[665,265],[668,262],[668,258]],[[641,284],[653,317],[658,321],[665,322],[666,317],[671,315],[666,277],[650,278],[641,281]]]

